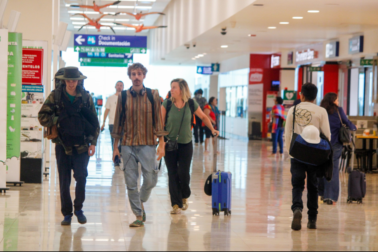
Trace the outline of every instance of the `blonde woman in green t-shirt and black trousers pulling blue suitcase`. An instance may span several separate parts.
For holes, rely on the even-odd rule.
[[[198,103],[191,99],[192,94],[184,79],[172,80],[170,87],[171,97],[163,102],[161,115],[163,116],[163,122],[166,122],[166,131],[169,132],[168,138],[172,140],[177,138],[178,143],[177,150],[166,151],[164,156],[168,170],[170,201],[173,207],[170,213],[178,214],[181,213],[181,210],[187,209],[189,204],[187,198],[191,195],[189,170],[192,162],[193,144],[192,112],[189,103],[194,103],[194,114],[209,127],[213,135],[218,136],[219,131],[214,129],[209,118],[198,106]],[[169,111],[168,114],[167,110]]]

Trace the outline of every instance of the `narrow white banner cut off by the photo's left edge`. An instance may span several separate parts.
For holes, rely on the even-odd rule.
[[[8,29],[0,29],[0,117],[6,118]],[[6,120],[0,120],[0,187],[6,186]]]

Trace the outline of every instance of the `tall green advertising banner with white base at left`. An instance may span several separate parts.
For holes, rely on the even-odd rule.
[[[6,181],[20,181],[22,33],[8,33]]]

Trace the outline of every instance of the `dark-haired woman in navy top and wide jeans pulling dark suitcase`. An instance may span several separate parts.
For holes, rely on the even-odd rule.
[[[328,205],[332,205],[339,198],[339,159],[342,152],[339,130],[342,124],[345,124],[352,131],[357,130],[357,127],[348,120],[344,110],[339,107],[339,98],[336,93],[325,94],[320,106],[327,110],[328,121],[330,123],[333,149],[333,175],[330,182],[327,182],[325,178],[318,178],[318,190],[323,201],[327,202]]]

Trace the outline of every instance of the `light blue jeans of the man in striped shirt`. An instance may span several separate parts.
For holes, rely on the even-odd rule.
[[[158,182],[158,162],[155,145],[122,145],[122,158],[127,195],[135,216],[143,215],[142,204],[148,200]],[[138,162],[142,166],[143,184],[138,192]]]

